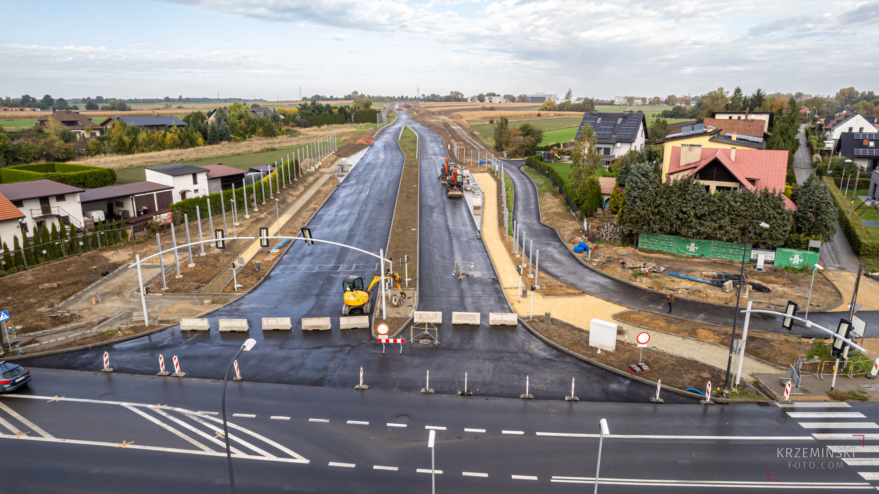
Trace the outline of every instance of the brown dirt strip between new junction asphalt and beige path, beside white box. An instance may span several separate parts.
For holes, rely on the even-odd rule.
[[[602,350],[599,353],[597,348],[589,346],[589,331],[556,320],[552,323],[545,323],[540,319],[532,319],[528,321],[528,325],[556,345],[561,345],[571,352],[577,352],[607,366],[631,373],[628,366],[638,363],[641,349],[636,345],[623,345],[622,342],[618,341],[614,352]],[[650,347],[643,350],[642,362],[650,366],[650,372],[638,375],[650,381],[661,379],[663,384],[678,389],[705,389],[705,384],[708,381],[715,383],[723,381],[723,371],[715,367],[696,360],[656,352]]]

